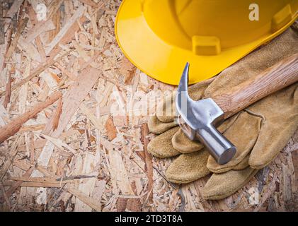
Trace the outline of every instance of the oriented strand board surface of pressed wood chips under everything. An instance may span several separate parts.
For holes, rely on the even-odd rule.
[[[46,20],[38,20],[40,4],[47,6]],[[63,97],[1,143],[1,210],[298,210],[298,132],[268,167],[222,201],[202,199],[208,177],[183,186],[166,181],[172,160],[151,157],[146,148],[154,137],[147,112],[155,106],[146,114],[138,107],[129,116],[113,114],[129,100],[142,106],[142,96],[175,89],[125,59],[114,35],[119,6],[118,0],[4,3],[4,15],[15,19],[3,21],[0,126],[57,90]]]

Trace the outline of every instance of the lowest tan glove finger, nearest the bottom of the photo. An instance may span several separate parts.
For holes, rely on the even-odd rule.
[[[212,174],[202,189],[202,196],[209,200],[231,196],[231,194],[245,186],[256,172],[258,172],[258,169],[246,167],[246,169],[242,170],[230,170],[222,174]]]

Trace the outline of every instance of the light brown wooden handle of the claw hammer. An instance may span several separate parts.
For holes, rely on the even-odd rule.
[[[212,99],[224,112],[224,119],[227,119],[263,97],[297,81],[298,54],[294,54]]]

